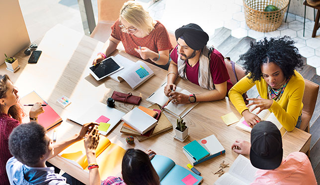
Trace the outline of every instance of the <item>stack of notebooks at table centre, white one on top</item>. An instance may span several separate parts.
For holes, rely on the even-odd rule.
[[[130,120],[130,118],[128,119],[126,115],[123,116],[123,118],[125,119],[122,119],[122,128],[120,130],[121,133],[136,136],[139,141],[142,141],[172,128],[169,120],[165,117],[164,114],[161,114],[160,107],[157,104],[154,104],[149,108],[143,106],[135,106],[130,112],[134,113],[134,111],[136,112],[136,116],[138,116],[139,118],[138,121],[134,123],[132,122],[132,120]],[[144,117],[139,117],[140,114]],[[148,123],[147,120],[151,120],[150,118],[156,119],[158,121],[158,124],[152,124],[153,122]],[[140,125],[142,126],[138,128]]]

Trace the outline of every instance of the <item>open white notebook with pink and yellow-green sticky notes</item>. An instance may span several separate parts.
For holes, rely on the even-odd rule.
[[[124,112],[116,108],[108,107],[106,104],[99,102],[94,104],[88,110],[74,112],[74,114],[68,116],[68,119],[83,125],[85,123],[95,122],[100,116],[104,116],[110,119],[107,122],[110,124],[107,132],[99,131],[100,134],[105,136],[113,129],[113,127],[117,125],[117,123],[121,120],[121,117],[124,115]]]

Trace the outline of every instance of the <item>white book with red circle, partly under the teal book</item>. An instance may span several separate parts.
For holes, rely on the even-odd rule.
[[[204,139],[200,139],[197,142],[202,147],[204,147],[210,154],[207,157],[199,161],[196,161],[185,150],[183,150],[184,154],[187,156],[187,158],[193,166],[226,152],[225,148],[222,146],[222,144],[219,142],[215,135],[211,135]]]

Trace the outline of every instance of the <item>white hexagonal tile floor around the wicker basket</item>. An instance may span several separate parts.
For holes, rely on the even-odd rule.
[[[148,8],[150,15],[159,20],[169,31],[188,23],[196,23],[209,36],[215,29],[226,27],[232,30],[232,36],[249,36],[256,40],[264,37],[290,36],[296,42],[300,53],[307,58],[307,64],[317,69],[320,75],[320,29],[316,38],[312,38],[315,22],[306,19],[305,37],[303,36],[304,17],[288,14],[287,22],[273,32],[257,32],[245,24],[242,0],[159,0]]]

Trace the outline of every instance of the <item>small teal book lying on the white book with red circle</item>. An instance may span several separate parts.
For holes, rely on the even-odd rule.
[[[198,141],[194,140],[189,144],[183,146],[183,150],[186,151],[194,160],[200,161],[207,157],[210,153],[199,144]]]

